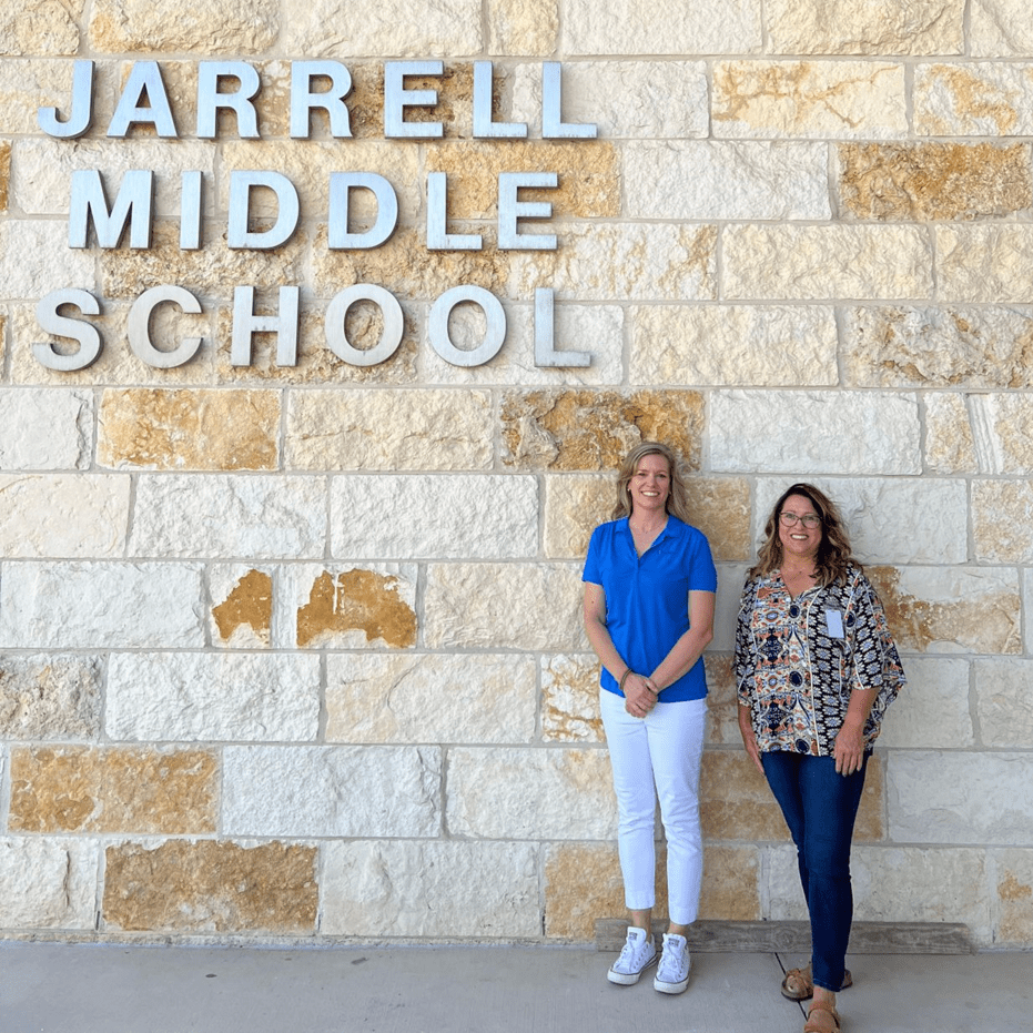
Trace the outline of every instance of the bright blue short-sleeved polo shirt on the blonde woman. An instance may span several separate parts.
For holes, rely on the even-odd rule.
[[[591,534],[583,581],[606,595],[606,626],[631,670],[650,675],[689,630],[689,593],[717,591],[718,575],[706,535],[668,515],[667,526],[639,557],[628,519],[600,524]],[[600,683],[624,693],[604,667]],[[702,699],[707,676],[702,657],[660,692],[660,701]]]

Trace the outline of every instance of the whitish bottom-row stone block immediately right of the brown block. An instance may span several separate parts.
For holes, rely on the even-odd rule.
[[[359,840],[327,843],[323,853],[320,931],[326,935],[541,934],[531,843]]]

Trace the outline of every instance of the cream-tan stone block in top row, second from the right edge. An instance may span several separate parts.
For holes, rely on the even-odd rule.
[[[768,48],[774,53],[960,54],[964,9],[964,0],[768,0]]]

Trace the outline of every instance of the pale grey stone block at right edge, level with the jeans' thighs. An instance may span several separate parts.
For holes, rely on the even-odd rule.
[[[1025,845],[1033,821],[1031,769],[1029,752],[894,750],[887,771],[890,838],[904,843]]]

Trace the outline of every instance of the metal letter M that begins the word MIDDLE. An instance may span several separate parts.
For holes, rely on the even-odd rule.
[[[114,206],[108,207],[104,184],[95,169],[72,173],[72,199],[68,219],[68,246],[85,247],[90,223],[101,247],[118,247],[125,223],[130,224],[129,246],[151,246],[151,199],[154,173],[133,169],[122,176]]]

